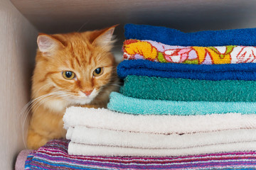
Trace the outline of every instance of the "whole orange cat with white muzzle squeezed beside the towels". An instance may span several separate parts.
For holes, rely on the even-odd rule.
[[[62,118],[68,106],[107,106],[110,92],[118,90],[116,62],[110,52],[114,28],[38,35],[29,149],[65,137]]]

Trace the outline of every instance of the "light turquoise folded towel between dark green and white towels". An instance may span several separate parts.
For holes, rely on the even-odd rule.
[[[161,101],[110,94],[107,108],[122,113],[142,115],[207,115],[222,113],[256,113],[255,102]]]

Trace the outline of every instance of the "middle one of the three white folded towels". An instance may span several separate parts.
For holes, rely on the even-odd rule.
[[[162,135],[76,126],[73,129],[68,129],[67,134],[67,139],[80,144],[145,149],[178,149],[236,142],[256,142],[255,129]]]

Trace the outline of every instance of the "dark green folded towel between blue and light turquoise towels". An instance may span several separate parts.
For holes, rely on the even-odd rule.
[[[256,81],[127,76],[124,96],[169,101],[256,101]]]

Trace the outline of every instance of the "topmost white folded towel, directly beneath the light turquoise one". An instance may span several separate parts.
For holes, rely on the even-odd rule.
[[[64,128],[85,126],[107,130],[159,134],[212,132],[256,128],[256,115],[226,113],[213,115],[130,115],[105,108],[67,108]]]

